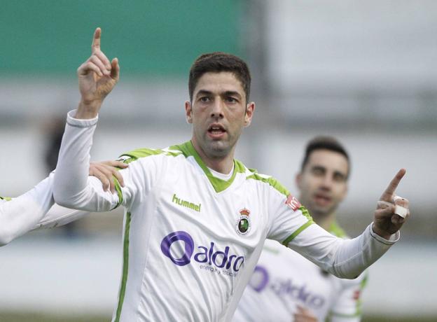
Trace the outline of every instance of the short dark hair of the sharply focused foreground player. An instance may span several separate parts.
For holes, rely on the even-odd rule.
[[[229,71],[240,80],[246,94],[246,102],[249,101],[251,85],[249,67],[240,57],[227,54],[226,52],[209,52],[200,55],[195,59],[191,66],[190,76],[188,78],[190,101],[193,102],[193,92],[197,85],[197,81],[204,73],[220,73],[221,71]]]

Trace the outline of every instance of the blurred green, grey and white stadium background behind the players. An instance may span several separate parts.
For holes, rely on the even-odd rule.
[[[352,157],[340,224],[370,223],[400,167],[414,216],[370,267],[364,321],[437,321],[437,2],[0,1],[0,195],[48,174],[60,119],[78,103],[77,67],[95,27],[118,57],[92,160],[186,141],[188,69],[232,52],[253,73],[253,125],[237,158],[296,193],[303,148],[317,134]],[[50,163],[51,162],[51,163]],[[109,321],[121,267],[120,211],[32,232],[0,248],[0,321]],[[30,315],[29,315],[30,314]]]

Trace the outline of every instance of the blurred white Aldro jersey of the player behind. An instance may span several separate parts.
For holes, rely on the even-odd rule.
[[[346,238],[336,223],[330,232]],[[295,251],[266,240],[233,321],[289,322],[297,306],[312,311],[317,321],[360,321],[365,284],[366,272],[356,279],[339,279]]]

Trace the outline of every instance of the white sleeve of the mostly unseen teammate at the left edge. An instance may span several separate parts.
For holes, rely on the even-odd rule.
[[[65,225],[88,214],[54,204],[53,179],[52,173],[27,193],[0,200],[0,246],[30,230]]]

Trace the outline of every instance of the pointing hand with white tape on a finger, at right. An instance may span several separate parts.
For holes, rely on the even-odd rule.
[[[395,190],[398,188],[398,184],[401,182],[405,172],[405,169],[400,169],[398,171],[396,176],[394,176],[394,179],[392,179],[389,183],[387,189],[384,191],[384,193],[382,193],[380,200],[390,203],[394,202],[394,197],[396,196]],[[405,216],[405,218],[394,214],[395,205],[397,204],[398,206],[408,209],[409,203],[410,202],[408,202],[407,199],[402,198],[396,200],[392,206],[387,208],[378,206],[375,210],[373,219],[373,231],[377,235],[380,235],[380,237],[389,239],[391,235],[401,229],[403,223],[405,223],[408,217],[410,217],[410,210],[408,210],[408,214]]]

